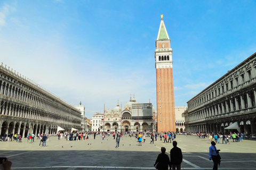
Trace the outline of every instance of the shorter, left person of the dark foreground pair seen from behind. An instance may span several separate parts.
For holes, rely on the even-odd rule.
[[[156,162],[154,166],[158,170],[168,170],[168,166],[170,166],[169,156],[165,154],[166,149],[164,147],[161,148],[161,154],[157,156]],[[171,166],[170,166],[171,169]]]

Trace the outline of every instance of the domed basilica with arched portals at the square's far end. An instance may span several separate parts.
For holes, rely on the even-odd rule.
[[[98,122],[100,131],[110,132],[153,132],[156,122],[153,118],[155,108],[151,103],[137,103],[136,99],[130,101],[123,108],[117,103],[112,109],[106,109],[103,120]],[[97,116],[97,115],[94,115]],[[99,115],[100,116],[100,115]],[[92,122],[96,123],[96,120]]]

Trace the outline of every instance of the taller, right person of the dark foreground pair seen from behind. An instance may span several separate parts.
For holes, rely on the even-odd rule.
[[[182,152],[181,149],[177,147],[177,141],[172,142],[173,148],[170,151],[170,165],[172,166],[172,169],[175,170],[175,167],[177,167],[177,170],[180,170],[181,163],[182,163]]]

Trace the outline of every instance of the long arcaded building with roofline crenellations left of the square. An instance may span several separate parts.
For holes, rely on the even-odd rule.
[[[39,84],[0,65],[0,134],[57,133],[60,126],[85,131],[84,115]],[[87,122],[86,122],[87,123]],[[84,127],[81,128],[81,127]]]

